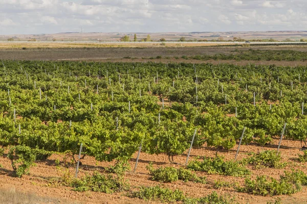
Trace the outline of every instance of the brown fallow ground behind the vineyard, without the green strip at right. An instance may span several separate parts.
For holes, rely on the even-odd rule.
[[[156,43],[157,44],[157,43]],[[70,61],[101,61],[101,62],[187,62],[187,63],[233,63],[244,64],[275,64],[275,65],[307,65],[307,61],[236,61],[236,60],[192,60],[182,56],[196,55],[230,55],[237,51],[249,49],[260,50],[294,50],[307,52],[307,45],[252,45],[238,46],[163,46],[157,44],[139,44],[140,47],[129,47],[131,44],[78,44],[78,43],[0,43],[0,59],[8,60],[70,60]],[[176,44],[172,44],[176,45]],[[100,47],[98,47],[100,46]],[[142,47],[143,46],[143,47]],[[147,46],[147,47],[146,47]],[[22,49],[26,47],[26,49]],[[157,59],[161,56],[161,59]]]

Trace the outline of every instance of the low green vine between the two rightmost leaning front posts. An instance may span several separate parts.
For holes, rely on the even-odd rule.
[[[265,150],[260,151],[257,154],[251,152],[248,159],[246,159],[248,164],[254,165],[256,168],[284,168],[287,164],[282,163],[280,151],[277,153],[276,150]]]

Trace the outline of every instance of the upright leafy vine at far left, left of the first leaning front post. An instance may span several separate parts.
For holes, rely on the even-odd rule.
[[[8,158],[12,161],[14,175],[17,177],[29,173],[29,169],[35,163],[36,155],[28,146],[17,145],[10,147]]]

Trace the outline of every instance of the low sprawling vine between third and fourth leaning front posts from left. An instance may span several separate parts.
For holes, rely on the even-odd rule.
[[[194,160],[189,162],[188,169],[195,171],[205,171],[210,174],[222,174],[231,176],[244,176],[250,174],[250,171],[239,162],[224,161],[223,157],[204,158],[202,162]]]

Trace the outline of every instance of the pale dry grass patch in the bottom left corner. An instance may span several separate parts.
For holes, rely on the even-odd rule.
[[[52,203],[72,203],[67,200],[56,198],[39,197],[36,194],[24,193],[13,189],[0,189],[1,204],[52,204]]]

